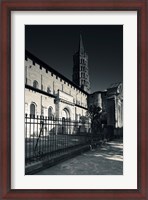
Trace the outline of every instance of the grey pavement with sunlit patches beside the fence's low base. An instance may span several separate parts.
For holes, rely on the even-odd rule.
[[[114,140],[36,175],[122,175],[123,142]]]

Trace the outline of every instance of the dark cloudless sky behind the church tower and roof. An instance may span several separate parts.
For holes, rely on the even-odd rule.
[[[80,33],[88,54],[91,92],[122,82],[122,25],[26,25],[25,48],[72,80]]]

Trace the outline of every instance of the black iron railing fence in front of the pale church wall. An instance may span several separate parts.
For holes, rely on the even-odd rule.
[[[25,115],[25,164],[66,154],[91,144],[91,124]]]

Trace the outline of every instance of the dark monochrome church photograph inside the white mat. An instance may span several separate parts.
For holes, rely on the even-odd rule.
[[[123,25],[25,25],[25,175],[123,175]]]

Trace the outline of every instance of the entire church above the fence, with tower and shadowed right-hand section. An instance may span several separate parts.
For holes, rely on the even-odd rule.
[[[86,116],[89,105],[104,109],[109,125],[123,126],[122,83],[90,94],[88,55],[81,35],[79,49],[73,56],[72,81],[25,51],[26,114],[78,121]]]

